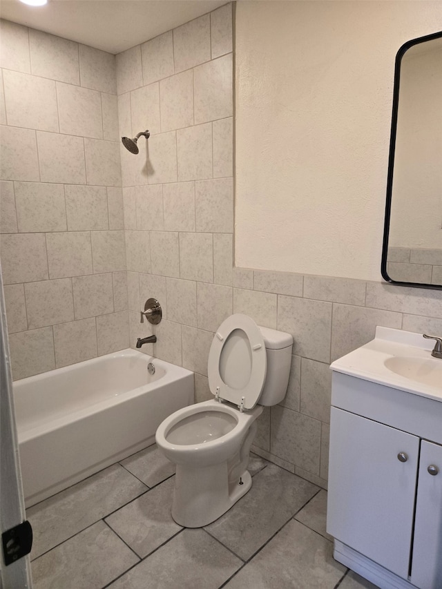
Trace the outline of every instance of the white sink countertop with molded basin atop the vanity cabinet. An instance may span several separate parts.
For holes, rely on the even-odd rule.
[[[402,329],[376,327],[374,340],[331,365],[332,370],[442,402],[442,359],[434,342]]]

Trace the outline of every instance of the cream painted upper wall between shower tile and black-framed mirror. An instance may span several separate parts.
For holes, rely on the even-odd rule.
[[[236,265],[380,280],[394,58],[440,1],[236,7]]]

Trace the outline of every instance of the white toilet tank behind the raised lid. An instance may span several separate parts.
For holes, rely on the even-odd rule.
[[[289,384],[293,337],[284,331],[259,326],[267,351],[267,374],[258,405],[278,405]]]

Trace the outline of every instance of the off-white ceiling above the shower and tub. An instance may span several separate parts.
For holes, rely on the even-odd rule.
[[[1,0],[0,16],[30,28],[119,53],[222,6],[226,0]]]

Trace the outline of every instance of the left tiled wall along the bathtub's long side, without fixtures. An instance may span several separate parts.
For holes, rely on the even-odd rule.
[[[17,379],[128,347],[126,257],[115,57],[8,21],[0,53],[1,265]]]

